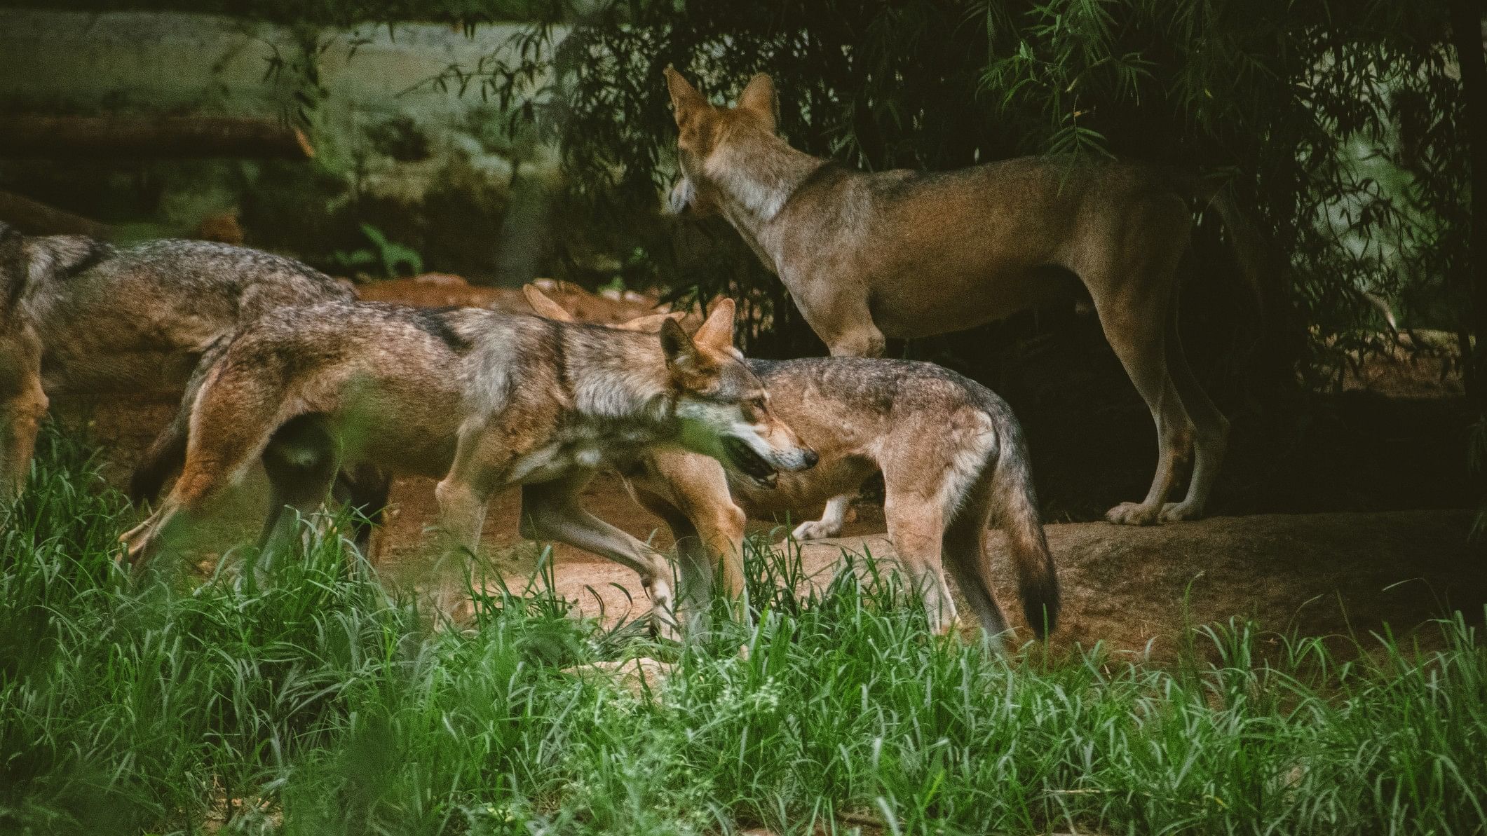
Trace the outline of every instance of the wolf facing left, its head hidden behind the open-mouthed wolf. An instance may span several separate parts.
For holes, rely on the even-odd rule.
[[[572,320],[535,287],[525,290],[538,314]],[[623,327],[654,330],[665,317]],[[937,631],[950,629],[956,617],[941,556],[986,634],[995,640],[1007,631],[986,553],[992,519],[1007,531],[1029,626],[1039,638],[1053,629],[1059,579],[1022,427],[1007,402],[932,363],[816,357],[748,366],[776,415],[819,455],[816,467],[782,473],[764,486],[711,458],[656,449],[620,470],[636,500],[675,534],[687,608],[708,601],[714,577],[726,594],[742,591],[745,518],[830,500],[825,518],[803,524],[796,536],[809,527],[807,536],[833,537],[846,510],[842,494],[882,473],[889,538]]]

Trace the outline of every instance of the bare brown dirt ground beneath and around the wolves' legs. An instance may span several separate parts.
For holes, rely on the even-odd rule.
[[[517,309],[522,305],[512,292],[470,289],[458,281],[384,286],[367,296],[425,305],[510,305]],[[644,299],[623,302],[638,312],[625,309],[611,314],[614,318],[638,315],[651,303]],[[581,305],[584,300],[575,296],[570,303]],[[613,306],[601,308],[596,318],[614,311]],[[1398,364],[1384,369],[1384,373],[1395,378],[1393,385],[1399,385]],[[1436,373],[1425,370],[1428,376]],[[1389,403],[1408,406],[1411,402]],[[64,418],[89,424],[92,437],[101,443],[106,475],[120,482],[174,408],[171,402],[149,399],[74,399],[58,403]],[[1149,431],[1149,424],[1146,427]],[[1103,455],[1118,454],[1105,451]],[[1071,467],[1074,463],[1060,466]],[[1084,461],[1086,469],[1091,466],[1090,460]],[[1145,467],[1149,463],[1138,469],[1141,478],[1148,475]],[[1346,473],[1347,467],[1334,472],[1335,476]],[[1044,475],[1039,473],[1038,479],[1047,500]],[[1060,488],[1062,482],[1054,491]],[[1389,510],[1389,506],[1408,509],[1410,498],[1417,495],[1389,494],[1359,506],[1371,509],[1383,503],[1383,509],[1362,512],[1252,513],[1154,528],[1121,528],[1105,522],[1048,525],[1065,595],[1057,643],[1090,646],[1105,641],[1118,650],[1149,649],[1163,659],[1181,650],[1178,637],[1184,625],[1224,622],[1233,616],[1252,617],[1267,631],[1332,635],[1338,644],[1346,644],[1349,635],[1367,640],[1384,623],[1408,634],[1450,608],[1460,608],[1468,620],[1480,623],[1487,605],[1487,561],[1483,559],[1481,543],[1474,546],[1468,540],[1475,515],[1439,507],[1438,501],[1422,503],[1435,504],[1433,509]],[[238,495],[225,501],[220,509],[223,524],[208,537],[204,558],[210,561],[230,544],[251,540],[265,501],[260,479],[250,479]],[[613,476],[596,479],[586,491],[584,503],[598,516],[663,550],[672,546],[660,521],[635,504]],[[486,516],[483,540],[492,564],[513,586],[520,586],[532,574],[538,556],[538,547],[523,543],[516,534],[519,504],[516,491],[497,497]],[[391,524],[376,543],[378,571],[384,577],[394,583],[427,577],[421,556],[424,528],[433,524],[434,513],[431,480],[400,479],[394,483]],[[818,579],[830,577],[840,564],[843,549],[861,552],[865,547],[877,558],[892,556],[883,536],[880,507],[870,501],[858,503],[857,516],[843,538],[803,549],[809,573]],[[776,536],[788,531],[770,522],[755,522],[754,527]],[[1001,534],[992,531],[989,537],[1002,579],[998,598],[1010,620],[1019,623],[1020,605],[1011,567],[1002,556]],[[648,610],[636,577],[628,570],[568,546],[558,546],[553,556],[558,594],[577,601],[583,613],[602,613],[607,620],[617,620]],[[1423,641],[1429,641],[1430,635],[1430,631],[1420,631]]]

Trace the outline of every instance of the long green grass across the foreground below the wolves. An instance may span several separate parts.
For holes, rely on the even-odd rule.
[[[1178,668],[935,640],[882,579],[656,647],[541,589],[430,632],[326,541],[263,589],[114,567],[49,436],[0,534],[0,833],[1483,833],[1487,652],[1245,625]],[[739,644],[751,653],[741,657]],[[1268,647],[1268,646],[1267,646]],[[565,666],[677,662],[659,693]],[[1212,662],[1216,659],[1216,662]],[[229,799],[232,800],[229,803]],[[225,814],[230,814],[223,823]],[[871,824],[877,823],[877,826]],[[879,827],[880,826],[880,827]]]

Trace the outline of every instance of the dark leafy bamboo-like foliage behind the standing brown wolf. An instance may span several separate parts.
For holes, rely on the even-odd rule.
[[[1225,176],[1276,253],[1271,348],[1295,361],[1310,338],[1320,379],[1383,342],[1367,293],[1414,326],[1462,323],[1466,158],[1441,1],[629,0],[574,18],[553,3],[516,49],[445,80],[561,141],[586,217],[568,256],[638,247],[632,284],[745,295],[776,330],[803,327],[721,226],[656,220],[675,65],[718,103],[769,71],[791,143],[861,168],[1051,152]],[[1227,272],[1216,225],[1196,244],[1190,269]]]

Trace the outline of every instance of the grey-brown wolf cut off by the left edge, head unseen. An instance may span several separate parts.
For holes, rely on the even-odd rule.
[[[52,396],[178,396],[199,385],[244,323],[286,305],[354,298],[299,262],[244,247],[168,239],[120,248],[0,223],[0,495],[21,491]],[[147,461],[170,463],[159,449],[170,437]],[[143,469],[135,495],[153,494],[167,476]]]

